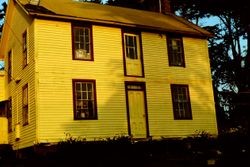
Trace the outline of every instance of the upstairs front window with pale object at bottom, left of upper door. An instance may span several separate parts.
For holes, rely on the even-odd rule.
[[[92,27],[73,25],[73,59],[93,60]]]

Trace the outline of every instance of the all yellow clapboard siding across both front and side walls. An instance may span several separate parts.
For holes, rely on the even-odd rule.
[[[149,135],[185,137],[196,131],[217,134],[207,41],[183,37],[186,67],[169,67],[167,36],[142,32],[144,77],[124,76],[122,29],[92,26],[94,61],[72,59],[71,22],[31,19],[12,3],[5,50],[12,51],[13,81],[0,99],[12,97],[14,149],[58,142],[66,134],[87,140],[128,135],[125,81],[145,82]],[[6,29],[6,28],[5,28]],[[28,34],[28,66],[22,66],[22,34]],[[7,30],[6,30],[7,31]],[[15,80],[20,78],[19,83]],[[96,81],[97,120],[74,120],[72,79]],[[28,84],[29,124],[22,126],[22,88]],[[171,84],[189,85],[192,120],[174,120]],[[1,93],[1,92],[0,92]],[[21,124],[15,141],[15,125]]]

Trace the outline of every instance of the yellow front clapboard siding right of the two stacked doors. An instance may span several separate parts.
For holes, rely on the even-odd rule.
[[[217,134],[207,42],[183,38],[186,68],[169,67],[166,36],[143,33],[150,135],[182,137],[207,131]],[[170,84],[187,84],[193,120],[174,120]]]

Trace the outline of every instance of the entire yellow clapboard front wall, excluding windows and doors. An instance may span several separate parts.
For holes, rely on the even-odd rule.
[[[66,134],[98,139],[128,134],[125,81],[146,83],[149,133],[217,134],[207,42],[184,38],[186,68],[168,66],[166,36],[142,33],[145,78],[124,77],[121,29],[93,26],[94,61],[72,60],[71,24],[35,20],[38,59],[38,142]],[[98,120],[74,120],[72,79],[94,79]],[[188,84],[193,120],[174,120],[170,84]]]

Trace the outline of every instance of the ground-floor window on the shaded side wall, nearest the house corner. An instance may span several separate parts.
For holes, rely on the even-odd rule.
[[[23,86],[22,92],[22,102],[23,102],[23,126],[29,124],[29,96],[28,96],[28,84]]]

